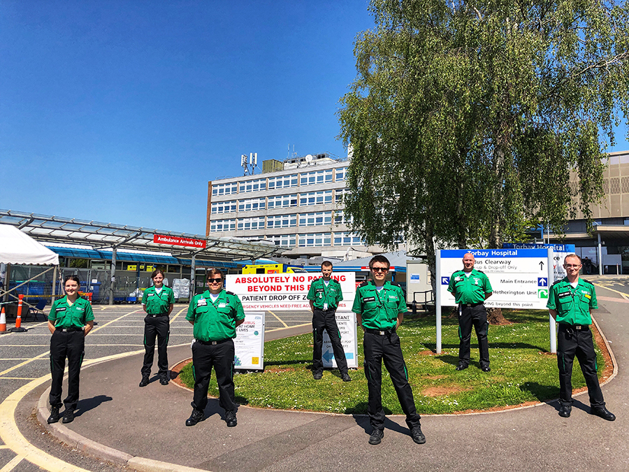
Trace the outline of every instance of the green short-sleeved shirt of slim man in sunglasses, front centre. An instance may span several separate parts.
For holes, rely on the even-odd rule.
[[[388,280],[381,290],[377,290],[369,280],[356,289],[352,311],[361,315],[366,329],[394,329],[398,322],[398,313],[406,313],[404,290]]]

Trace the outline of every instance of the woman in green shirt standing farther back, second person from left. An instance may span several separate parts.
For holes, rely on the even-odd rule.
[[[164,272],[160,269],[151,274],[153,286],[145,289],[142,296],[144,318],[144,364],[140,373],[140,387],[149,384],[153,357],[155,354],[155,338],[157,338],[157,369],[159,383],[168,385],[168,335],[171,333],[168,317],[173,311],[175,294],[173,289],[164,285]]]

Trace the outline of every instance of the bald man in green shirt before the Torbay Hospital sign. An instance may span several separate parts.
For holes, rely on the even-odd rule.
[[[478,338],[480,351],[480,368],[489,372],[489,343],[487,342],[487,310],[484,301],[493,293],[491,283],[482,271],[474,269],[476,260],[471,252],[463,256],[463,270],[456,271],[450,276],[448,292],[454,295],[458,303],[458,366],[457,371],[467,369],[470,365],[470,341],[472,339],[472,324]]]

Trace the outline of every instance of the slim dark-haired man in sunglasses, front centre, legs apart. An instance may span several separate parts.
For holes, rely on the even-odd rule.
[[[384,437],[384,409],[382,408],[382,361],[389,371],[393,387],[396,388],[400,406],[406,415],[406,424],[410,435],[417,444],[426,443],[426,436],[421,432],[419,414],[415,409],[413,392],[408,383],[408,372],[397,329],[402,324],[407,312],[406,297],[403,289],[386,280],[389,272],[389,259],[382,255],[373,257],[369,262],[372,280],[361,283],[356,289],[352,311],[356,321],[365,332],[363,353],[365,357],[365,376],[369,392],[367,413],[373,431],[369,436],[370,444],[379,444]]]

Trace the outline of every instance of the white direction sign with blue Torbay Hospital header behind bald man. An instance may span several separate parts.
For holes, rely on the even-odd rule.
[[[440,251],[440,299],[442,306],[456,306],[448,292],[452,273],[463,269],[463,255],[471,252],[475,269],[489,278],[493,294],[485,302],[488,308],[546,309],[549,285],[549,252],[552,248],[479,249]]]

